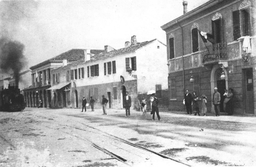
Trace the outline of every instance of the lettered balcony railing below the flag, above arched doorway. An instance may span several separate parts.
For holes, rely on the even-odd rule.
[[[202,49],[203,64],[227,60],[227,44],[218,43]]]

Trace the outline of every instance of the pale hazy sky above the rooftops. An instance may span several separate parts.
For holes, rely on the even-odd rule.
[[[187,1],[191,11],[209,0]],[[138,42],[157,38],[166,44],[160,27],[183,14],[182,2],[0,1],[0,36],[24,45],[25,71],[70,49],[120,49],[133,35]]]

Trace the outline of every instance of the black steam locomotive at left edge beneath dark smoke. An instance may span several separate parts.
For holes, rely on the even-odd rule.
[[[0,111],[21,111],[26,107],[24,96],[20,94],[18,86],[9,86],[0,91]]]

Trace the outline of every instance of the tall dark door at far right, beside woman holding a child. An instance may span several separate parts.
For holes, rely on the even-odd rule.
[[[246,100],[246,113],[254,114],[254,98],[253,98],[253,75],[252,68],[244,69],[244,91]]]

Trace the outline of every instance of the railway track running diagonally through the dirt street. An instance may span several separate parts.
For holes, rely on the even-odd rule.
[[[108,134],[107,132],[101,131],[97,128],[86,125],[79,121],[76,121],[76,125],[64,125],[58,122],[52,123],[58,124],[59,127],[64,126],[66,130],[64,131],[61,130],[61,128],[52,128],[48,126],[44,127],[51,128],[56,131],[61,131],[62,133],[66,133],[68,135],[73,135],[81,140],[86,140],[86,142],[90,142],[93,147],[110,155],[111,157],[128,166],[189,166],[188,164],[179,162],[165,155],[159,154],[147,148],[131,143],[127,140],[121,139],[117,136]],[[83,126],[79,126],[79,124]],[[68,132],[67,129],[76,129],[79,131],[84,131],[85,133],[78,132],[76,133],[76,135],[74,135],[74,132]],[[160,163],[161,165],[159,165]]]

